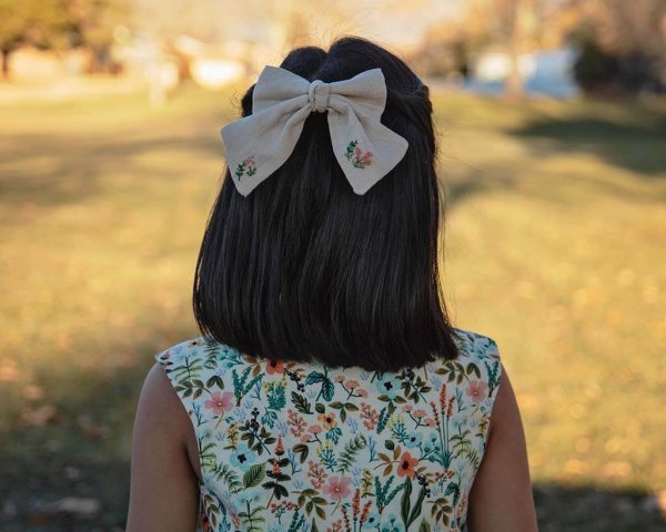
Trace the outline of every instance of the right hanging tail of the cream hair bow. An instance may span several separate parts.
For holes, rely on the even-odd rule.
[[[329,129],[335,158],[359,195],[391,172],[408,147],[405,139],[366,114],[329,110]]]

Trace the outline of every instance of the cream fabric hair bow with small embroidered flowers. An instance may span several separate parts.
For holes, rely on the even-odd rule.
[[[380,122],[385,105],[381,69],[324,83],[265,66],[254,86],[252,114],[222,127],[236,190],[246,196],[282,166],[310,113],[327,111],[335,157],[354,192],[365,194],[407,151],[407,141]]]

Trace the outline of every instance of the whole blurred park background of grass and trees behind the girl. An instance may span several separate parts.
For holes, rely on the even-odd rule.
[[[0,530],[124,530],[219,129],[344,34],[432,89],[445,291],[512,376],[541,530],[666,530],[664,0],[0,0]]]

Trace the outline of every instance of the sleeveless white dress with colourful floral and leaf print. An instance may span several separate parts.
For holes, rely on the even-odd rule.
[[[270,364],[198,337],[157,355],[196,436],[205,531],[465,531],[496,342],[397,372]]]

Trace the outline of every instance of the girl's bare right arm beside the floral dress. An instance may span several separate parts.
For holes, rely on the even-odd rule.
[[[470,494],[471,532],[535,532],[536,512],[518,403],[502,365],[486,450]]]

